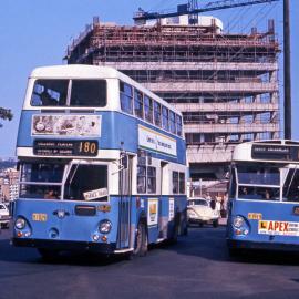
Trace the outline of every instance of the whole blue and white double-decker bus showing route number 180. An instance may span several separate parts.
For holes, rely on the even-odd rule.
[[[35,69],[17,155],[16,246],[142,256],[186,233],[182,115],[114,69]]]

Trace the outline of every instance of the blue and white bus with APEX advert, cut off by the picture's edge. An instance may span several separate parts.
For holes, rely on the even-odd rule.
[[[261,141],[233,155],[227,243],[240,249],[299,249],[299,142]]]

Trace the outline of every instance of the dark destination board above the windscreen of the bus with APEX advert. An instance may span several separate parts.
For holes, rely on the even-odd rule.
[[[251,156],[256,159],[299,161],[299,147],[285,145],[254,144]]]

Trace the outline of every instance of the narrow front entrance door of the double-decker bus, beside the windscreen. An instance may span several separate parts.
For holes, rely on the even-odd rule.
[[[132,207],[133,156],[121,155],[117,248],[128,248]]]

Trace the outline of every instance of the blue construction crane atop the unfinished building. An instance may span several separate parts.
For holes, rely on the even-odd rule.
[[[174,12],[166,12],[166,13],[146,12],[140,8],[140,10],[134,14],[133,20],[137,23],[145,23],[146,20],[172,18],[172,17],[188,14],[189,22],[190,24],[193,24],[193,23],[196,23],[198,13],[202,13],[202,12],[237,8],[237,7],[255,6],[255,4],[261,4],[261,3],[271,3],[276,1],[279,1],[279,0],[220,0],[220,1],[209,2],[206,6],[198,8],[197,0],[188,0],[188,3],[177,6],[177,11],[174,11]]]

